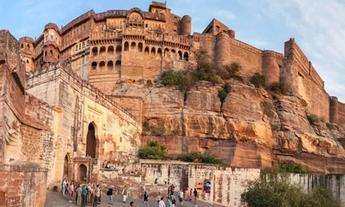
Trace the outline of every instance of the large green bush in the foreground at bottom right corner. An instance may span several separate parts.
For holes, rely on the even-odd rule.
[[[248,207],[324,207],[341,206],[331,191],[316,187],[306,193],[297,184],[284,179],[258,179],[250,183],[241,195]]]

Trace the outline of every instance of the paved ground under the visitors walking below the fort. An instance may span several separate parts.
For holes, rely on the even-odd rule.
[[[135,202],[135,207],[157,207],[157,201],[148,201],[148,204],[143,204],[143,200],[139,199],[127,199],[127,203],[124,204],[122,203],[122,198],[121,197],[113,197],[112,203],[116,207],[130,207],[129,203],[130,201]],[[184,201],[184,207],[210,207],[210,206],[218,206],[214,204],[207,204],[201,201],[198,201],[197,204],[194,204],[193,202],[190,201]],[[77,206],[77,203],[75,202],[75,198],[73,199],[72,203],[68,203],[68,196],[63,196],[59,192],[47,192],[47,200],[46,200],[46,207],[70,207],[70,206]],[[88,206],[91,206],[89,204]],[[108,204],[108,200],[106,200],[106,195],[101,197],[101,204],[98,205],[99,207],[103,206],[111,206]],[[179,202],[177,201],[177,206],[179,206]]]

